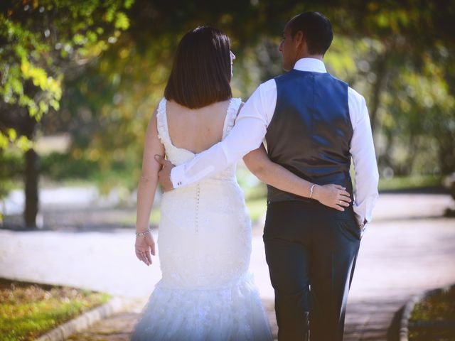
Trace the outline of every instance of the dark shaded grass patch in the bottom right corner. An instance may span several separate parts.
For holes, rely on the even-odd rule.
[[[431,323],[419,327],[418,323]],[[448,321],[451,328],[440,328],[437,323]],[[410,341],[455,340],[455,286],[417,303],[410,318]]]

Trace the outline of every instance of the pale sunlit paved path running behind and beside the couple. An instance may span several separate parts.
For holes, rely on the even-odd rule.
[[[410,296],[455,283],[455,220],[441,217],[450,205],[448,195],[381,195],[375,221],[360,245],[345,341],[386,340],[395,311]],[[259,228],[253,239],[251,270],[276,332],[273,291]],[[147,267],[135,258],[132,230],[0,230],[0,276],[136,298],[128,311],[70,338],[129,340],[160,273],[157,259]]]

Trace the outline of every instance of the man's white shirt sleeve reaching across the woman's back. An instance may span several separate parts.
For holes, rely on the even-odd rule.
[[[171,170],[173,188],[195,183],[198,180],[225,170],[239,161],[250,151],[259,148],[267,132],[276,103],[276,85],[270,83],[259,85],[235,120],[235,125],[223,141],[207,150],[198,153],[191,161],[183,163]],[[274,90],[274,97],[267,92]],[[269,97],[267,97],[269,96]],[[271,103],[274,98],[275,103]]]

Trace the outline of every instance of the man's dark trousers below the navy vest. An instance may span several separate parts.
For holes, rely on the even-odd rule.
[[[309,340],[308,334],[311,341],[343,340],[361,239],[352,207],[338,212],[319,202],[269,203],[263,239],[278,340]]]

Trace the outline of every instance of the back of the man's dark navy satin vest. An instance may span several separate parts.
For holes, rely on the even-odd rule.
[[[275,78],[277,106],[265,139],[270,160],[299,177],[343,185],[353,198],[348,84],[329,73],[291,70]],[[267,201],[314,199],[267,185]]]

